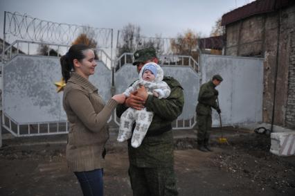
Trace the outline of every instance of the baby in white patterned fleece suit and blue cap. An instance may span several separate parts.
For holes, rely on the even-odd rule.
[[[168,84],[162,80],[163,69],[161,69],[161,66],[154,62],[148,62],[141,69],[139,80],[136,80],[123,94],[129,97],[130,93],[143,86],[147,89],[147,93],[152,96],[160,99],[168,98],[171,90]],[[134,148],[138,148],[150,127],[150,123],[152,123],[153,116],[154,113],[147,112],[145,107],[141,110],[129,107],[120,118],[120,129],[117,140],[123,142],[132,135],[131,145]],[[136,122],[136,126],[132,134],[132,125],[134,121]]]

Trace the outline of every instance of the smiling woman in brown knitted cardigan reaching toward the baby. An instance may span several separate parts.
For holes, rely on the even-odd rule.
[[[70,123],[66,160],[84,195],[103,195],[102,161],[109,139],[107,120],[118,103],[124,103],[125,96],[115,95],[107,104],[103,103],[98,89],[88,80],[97,65],[89,46],[71,46],[60,58],[60,64],[66,81],[63,106]]]

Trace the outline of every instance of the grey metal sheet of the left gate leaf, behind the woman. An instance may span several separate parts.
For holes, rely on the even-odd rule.
[[[54,82],[62,73],[59,58],[17,55],[3,68],[3,112],[17,123],[66,121],[62,92]],[[109,99],[111,71],[98,62],[89,78],[105,100]]]

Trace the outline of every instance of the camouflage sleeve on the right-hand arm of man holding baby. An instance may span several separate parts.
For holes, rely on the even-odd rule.
[[[154,112],[160,118],[174,121],[181,114],[184,107],[183,88],[172,77],[164,77],[163,80],[165,80],[171,89],[170,96],[159,99],[149,95],[145,102],[145,107],[147,107],[148,111]]]

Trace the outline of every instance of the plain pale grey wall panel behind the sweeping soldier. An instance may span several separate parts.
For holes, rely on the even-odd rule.
[[[220,74],[222,125],[262,121],[263,61],[260,58],[201,55],[202,84]],[[213,109],[213,125],[220,119]]]

